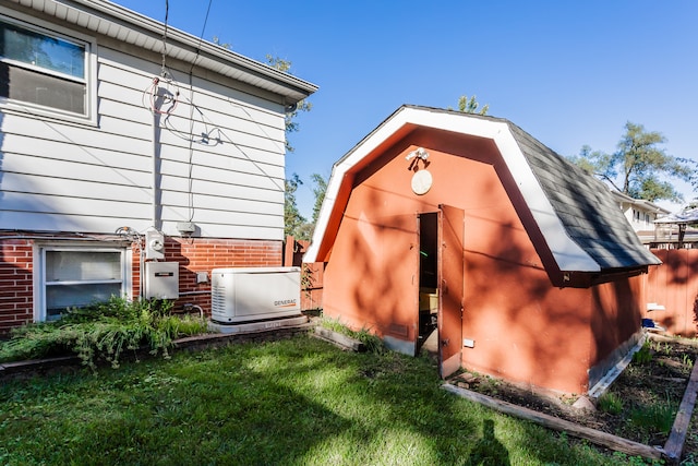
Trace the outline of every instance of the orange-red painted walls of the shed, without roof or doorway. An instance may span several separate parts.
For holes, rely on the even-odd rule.
[[[396,144],[357,175],[325,271],[325,314],[394,338],[407,326],[404,338],[413,339],[417,214],[449,204],[466,218],[462,336],[474,347],[462,348],[464,366],[538,386],[586,390],[587,371],[625,336],[595,325],[601,318],[592,316],[600,312],[601,322],[617,322],[627,313],[617,306],[618,289],[553,287],[497,175],[496,148],[476,138],[440,138],[412,134],[413,144]],[[421,196],[410,189],[405,158],[417,146],[428,150],[434,180]],[[638,325],[639,318],[630,335]]]

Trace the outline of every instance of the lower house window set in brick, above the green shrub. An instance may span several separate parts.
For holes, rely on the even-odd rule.
[[[37,321],[56,320],[68,308],[128,295],[131,261],[125,249],[41,247],[37,255]]]

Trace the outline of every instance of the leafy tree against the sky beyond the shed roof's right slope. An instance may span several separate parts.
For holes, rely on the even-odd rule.
[[[683,195],[665,178],[690,181],[695,170],[688,160],[666,154],[660,146],[665,142],[661,133],[628,121],[613,154],[585,145],[579,155],[570,159],[634,199],[682,201]]]

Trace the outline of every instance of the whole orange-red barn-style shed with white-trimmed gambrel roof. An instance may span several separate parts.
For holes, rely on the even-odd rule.
[[[508,120],[404,106],[333,167],[324,314],[416,355],[583,393],[637,342],[660,261],[603,183]]]

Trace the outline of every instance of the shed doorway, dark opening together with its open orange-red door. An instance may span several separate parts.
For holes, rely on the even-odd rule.
[[[438,374],[460,369],[464,306],[465,216],[460,208],[440,205],[419,220],[419,337],[421,349],[438,356]]]

